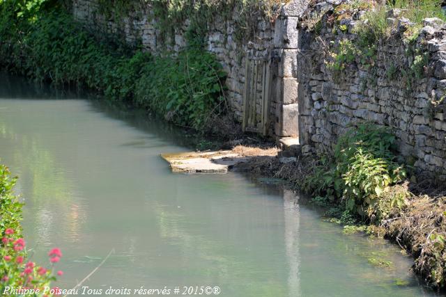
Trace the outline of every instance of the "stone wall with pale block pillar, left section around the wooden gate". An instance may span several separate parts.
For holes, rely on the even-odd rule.
[[[186,21],[176,28],[174,40],[160,41],[157,20],[153,18],[150,1],[141,4],[125,15],[120,22],[101,12],[98,0],[73,0],[72,13],[76,19],[98,32],[121,35],[130,44],[141,44],[154,54],[174,51],[185,47]],[[240,13],[223,19],[215,16],[208,24],[207,47],[221,62],[228,74],[226,79],[227,97],[234,117],[243,119],[243,91],[245,84],[245,59],[247,57],[266,58],[271,63],[272,88],[268,111],[268,134],[271,136],[297,136],[298,104],[295,69],[289,64],[298,48],[297,24],[309,0],[293,0],[282,7],[275,22],[259,17],[252,40],[242,44],[236,42],[236,21]],[[292,62],[292,61],[291,61]],[[292,62],[293,63],[293,62]],[[291,79],[292,78],[292,79]],[[284,90],[286,90],[284,92]],[[286,94],[286,95],[285,95]],[[285,97],[284,97],[285,96]],[[286,99],[284,99],[286,98]],[[259,102],[259,106],[261,106]],[[261,112],[261,109],[257,109]]]

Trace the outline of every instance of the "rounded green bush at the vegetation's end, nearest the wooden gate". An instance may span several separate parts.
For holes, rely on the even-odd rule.
[[[222,111],[225,74],[212,54],[191,48],[145,67],[135,100],[179,125],[199,129]]]

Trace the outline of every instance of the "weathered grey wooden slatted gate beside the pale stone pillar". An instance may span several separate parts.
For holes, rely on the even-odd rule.
[[[270,85],[268,58],[247,57],[243,93],[243,131],[266,135]]]

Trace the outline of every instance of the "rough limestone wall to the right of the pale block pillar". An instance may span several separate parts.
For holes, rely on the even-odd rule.
[[[318,1],[312,9],[330,14],[334,1]],[[340,2],[340,1],[338,1]],[[374,122],[391,127],[397,146],[420,174],[446,179],[446,26],[426,19],[422,33],[410,43],[403,33],[412,24],[389,16],[395,22],[392,36],[380,40],[372,65],[360,56],[344,70],[328,67],[330,51],[340,40],[353,40],[355,19],[347,29],[334,31],[323,21],[318,34],[300,35],[298,61],[299,128],[302,152],[324,152],[349,127]],[[426,56],[428,63],[416,69]],[[408,80],[410,70],[421,72]]]

